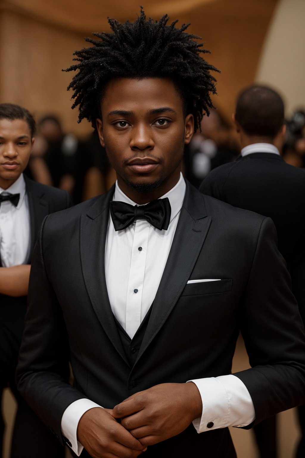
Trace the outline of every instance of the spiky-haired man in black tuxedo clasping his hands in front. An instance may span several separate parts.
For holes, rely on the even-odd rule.
[[[214,67],[167,21],[141,9],[76,51],[74,106],[117,182],[48,216],[33,256],[18,387],[82,457],[233,458],[227,426],[305,398],[304,329],[271,220],[181,175]],[[240,328],[253,368],[232,375]]]

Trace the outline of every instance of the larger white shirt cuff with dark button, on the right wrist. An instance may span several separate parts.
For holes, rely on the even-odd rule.
[[[202,399],[202,416],[193,421],[198,433],[247,426],[255,419],[251,396],[234,375],[189,380],[197,386]]]

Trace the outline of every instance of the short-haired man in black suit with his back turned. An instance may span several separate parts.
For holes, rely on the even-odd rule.
[[[272,218],[278,249],[287,262],[294,295],[305,322],[305,172],[279,154],[286,126],[282,98],[263,86],[246,88],[233,115],[241,156],[209,173],[204,194]],[[279,149],[278,149],[279,148]],[[305,409],[299,408],[302,439],[297,457],[305,456]],[[262,457],[276,456],[275,417],[255,428]]]

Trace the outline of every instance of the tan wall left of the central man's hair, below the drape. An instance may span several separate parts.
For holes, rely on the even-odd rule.
[[[32,111],[38,119],[54,113],[67,130],[83,134],[88,123],[77,125],[71,95],[66,91],[71,74],[61,71],[72,63],[72,53],[84,47],[77,33],[37,22],[14,12],[0,18],[0,100]]]

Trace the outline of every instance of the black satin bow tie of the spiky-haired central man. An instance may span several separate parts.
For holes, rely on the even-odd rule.
[[[171,219],[171,204],[167,197],[140,206],[110,202],[110,214],[116,231],[127,228],[135,219],[146,219],[155,228],[167,230]]]

